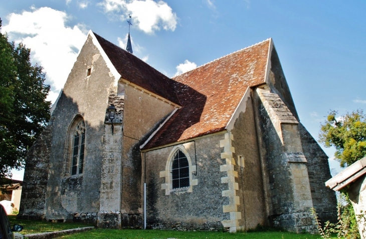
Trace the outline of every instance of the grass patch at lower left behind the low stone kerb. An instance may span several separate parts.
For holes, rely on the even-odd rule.
[[[25,220],[25,219],[18,220],[16,215],[8,215],[8,217],[12,226],[14,224],[21,224],[24,227],[23,230],[20,232],[22,234],[33,234],[33,233],[78,228],[84,226],[93,226],[91,224],[76,223],[76,222],[54,223],[38,220]]]

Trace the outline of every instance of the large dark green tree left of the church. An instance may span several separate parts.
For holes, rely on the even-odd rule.
[[[32,66],[30,54],[0,32],[0,185],[12,176],[11,169],[24,167],[27,150],[50,118],[50,86],[44,84],[43,68]]]

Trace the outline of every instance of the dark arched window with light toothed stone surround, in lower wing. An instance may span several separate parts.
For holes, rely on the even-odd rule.
[[[174,154],[171,174],[173,189],[190,186],[190,166],[188,159],[179,149]]]

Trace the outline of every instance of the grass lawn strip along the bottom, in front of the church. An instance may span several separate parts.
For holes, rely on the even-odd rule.
[[[250,238],[250,239],[317,239],[321,238],[320,235],[312,234],[296,234],[290,232],[281,231],[269,231],[269,232],[215,232],[215,231],[173,231],[173,230],[136,230],[136,229],[93,229],[86,232],[80,232],[70,235],[64,235],[58,238],[103,238],[103,239],[166,239],[166,238],[192,238],[192,239],[226,239],[226,238]]]

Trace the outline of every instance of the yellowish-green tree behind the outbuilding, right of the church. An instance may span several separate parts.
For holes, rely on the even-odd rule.
[[[340,166],[348,166],[366,156],[366,115],[361,109],[346,113],[338,120],[337,111],[331,111],[321,125],[319,142],[334,146]]]

